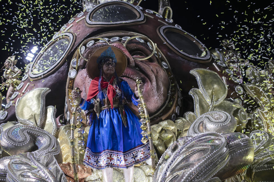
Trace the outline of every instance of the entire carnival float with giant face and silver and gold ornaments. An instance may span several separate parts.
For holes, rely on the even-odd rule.
[[[117,182],[125,181],[123,168],[129,166],[134,166],[129,180],[134,182],[274,180],[273,60],[260,69],[227,39],[208,49],[173,22],[169,1],[159,0],[158,12],[140,3],[84,0],[82,12],[56,32],[25,71],[15,66],[15,56],[6,59],[0,181],[103,182],[109,179],[106,166]],[[104,74],[98,64],[115,67],[120,78],[101,82],[98,77],[104,97],[96,100],[90,86],[94,75]],[[129,98],[120,82],[128,84]],[[109,99],[110,88],[127,101]],[[107,133],[90,131],[113,107],[123,132],[132,124],[124,116],[138,116],[138,128],[129,129],[128,138],[138,131],[139,148],[98,157],[93,147],[88,150],[88,137],[103,140]]]

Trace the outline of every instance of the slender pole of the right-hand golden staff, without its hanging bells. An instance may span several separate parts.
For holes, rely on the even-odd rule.
[[[145,105],[145,101],[144,101],[144,98],[143,98],[143,95],[142,95],[142,90],[140,89],[140,83],[141,82],[142,82],[142,80],[139,79],[139,78],[136,80],[137,89],[138,89],[138,96],[139,96],[138,103],[140,103],[140,107]],[[149,120],[147,108],[143,107],[143,109],[144,109],[144,114],[146,116],[146,125],[147,125],[147,130],[148,130],[148,141],[149,141],[149,144],[150,144],[150,150],[153,151],[153,153],[150,153],[150,158],[151,158],[151,165],[152,165],[151,166],[152,167],[152,174],[154,174],[154,171],[155,171],[155,157],[154,157],[154,146],[153,146],[153,141],[152,141],[152,136],[151,136],[151,129],[150,129],[150,120]],[[144,125],[144,124],[142,124],[142,125]],[[146,137],[142,137],[141,141],[143,143],[147,142],[145,140],[147,140]]]

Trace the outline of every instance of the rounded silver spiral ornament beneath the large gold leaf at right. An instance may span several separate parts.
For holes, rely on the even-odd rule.
[[[237,127],[235,117],[224,111],[210,111],[200,115],[188,130],[188,135],[216,132],[232,133]]]

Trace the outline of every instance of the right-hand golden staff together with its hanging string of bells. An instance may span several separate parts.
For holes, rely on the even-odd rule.
[[[151,158],[151,164],[152,164],[152,174],[154,174],[155,171],[155,155],[154,155],[154,146],[153,146],[153,141],[152,141],[152,136],[151,136],[151,129],[150,129],[150,120],[149,120],[149,115],[148,115],[148,110],[146,107],[146,103],[144,101],[144,97],[142,94],[142,90],[140,89],[140,83],[142,82],[142,80],[140,78],[138,78],[136,80],[136,84],[137,84],[137,89],[138,89],[138,96],[139,96],[139,100],[138,100],[138,111],[140,112],[140,121],[142,121],[142,125],[141,125],[141,129],[142,131],[142,139],[141,141],[145,144],[149,141],[150,144],[150,158]],[[145,130],[148,130],[147,132]],[[148,139],[146,138],[146,136],[148,137]]]

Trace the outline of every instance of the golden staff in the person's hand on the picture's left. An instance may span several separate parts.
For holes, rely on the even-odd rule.
[[[76,64],[77,65],[77,64]],[[79,88],[75,88],[75,91],[79,92]],[[75,161],[75,138],[74,138],[74,129],[75,129],[75,115],[77,112],[77,108],[79,107],[80,100],[76,100],[76,104],[74,105],[73,113],[72,113],[72,118],[70,120],[70,149],[71,149],[71,162],[72,162],[72,168],[73,168],[73,175],[74,175],[74,180],[75,182],[79,182],[78,179],[78,173],[77,173],[77,167],[76,167],[76,161]],[[78,123],[77,123],[78,125]],[[81,127],[81,126],[80,126]],[[77,126],[78,128],[78,126]]]

